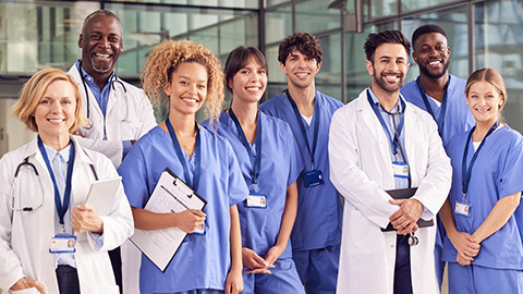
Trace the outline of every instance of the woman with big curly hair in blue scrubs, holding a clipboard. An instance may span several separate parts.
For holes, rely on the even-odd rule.
[[[148,97],[165,106],[169,117],[133,146],[119,172],[136,229],[177,226],[188,235],[165,272],[143,256],[141,292],[239,293],[243,267],[236,204],[248,189],[230,144],[199,127],[195,117],[204,103],[211,119],[221,110],[220,61],[202,45],[166,40],[149,53],[142,77]],[[207,200],[203,212],[144,209],[166,168]],[[205,232],[192,234],[202,224]]]

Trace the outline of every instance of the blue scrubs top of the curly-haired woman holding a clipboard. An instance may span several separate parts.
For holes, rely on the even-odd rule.
[[[248,189],[231,145],[205,127],[200,127],[199,134],[202,173],[196,192],[207,200],[205,234],[187,235],[163,273],[143,255],[141,293],[224,290],[231,266],[229,208],[245,199]],[[193,160],[183,155],[193,177]],[[187,182],[171,137],[156,126],[136,142],[118,169],[132,207],[145,207],[166,168]]]

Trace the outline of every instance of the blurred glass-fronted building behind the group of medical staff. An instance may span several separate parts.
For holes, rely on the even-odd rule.
[[[122,78],[139,86],[147,52],[166,38],[204,44],[222,62],[236,46],[255,46],[269,64],[264,99],[287,86],[278,45],[293,32],[320,38],[317,88],[348,102],[370,83],[363,50],[368,33],[397,28],[411,39],[417,26],[435,23],[448,34],[452,74],[466,78],[484,66],[501,72],[509,93],[504,117],[523,131],[521,0],[0,0],[0,155],[34,136],[10,114],[23,83],[45,68],[69,70],[81,56],[83,19],[100,8],[123,24],[124,51],[115,69]],[[418,74],[411,63],[406,82]]]

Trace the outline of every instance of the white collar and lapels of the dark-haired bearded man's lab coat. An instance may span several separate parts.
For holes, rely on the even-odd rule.
[[[367,89],[370,89],[370,88],[365,88],[356,98],[356,103],[357,103],[356,109],[357,109],[357,112],[361,113],[368,128],[370,130],[373,137],[379,144],[379,149],[380,149],[380,154],[384,162],[389,162],[389,164],[392,164],[390,160],[390,150],[389,150],[390,139],[388,135],[385,133],[384,127],[379,123],[379,120],[376,117],[376,113],[374,112],[372,106],[368,103]],[[401,94],[400,94],[400,99],[402,99],[405,102],[405,109],[404,109],[405,121],[403,124],[403,132],[405,134],[404,135],[405,146],[403,146],[403,148],[405,150],[405,154],[408,155],[406,157],[409,159],[409,167],[411,169],[412,186],[414,187],[414,186],[417,186],[417,183],[418,183],[418,176],[416,174],[416,158],[414,156],[409,157],[409,155],[412,155],[410,150],[415,144],[415,138],[413,135],[415,134],[414,127],[416,124],[416,118],[414,113],[414,106],[408,102]],[[392,166],[389,170],[391,173],[390,179],[393,180]]]

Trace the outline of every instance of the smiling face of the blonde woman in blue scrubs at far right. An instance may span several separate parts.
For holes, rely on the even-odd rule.
[[[477,123],[494,124],[504,105],[504,98],[490,83],[478,81],[471,85],[466,103]]]

